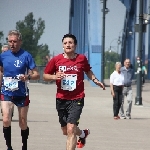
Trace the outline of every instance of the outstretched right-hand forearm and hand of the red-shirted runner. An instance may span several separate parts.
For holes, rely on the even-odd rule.
[[[87,77],[92,80],[96,85],[100,86],[101,88],[103,88],[103,90],[105,90],[105,86],[103,85],[103,83],[101,83],[96,76],[94,75],[94,73],[90,70],[88,72],[85,72],[85,74],[87,75]]]

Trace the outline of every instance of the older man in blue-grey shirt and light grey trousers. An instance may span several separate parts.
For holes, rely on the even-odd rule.
[[[134,71],[130,67],[130,59],[126,59],[124,61],[124,66],[121,68],[121,72],[124,75],[124,89],[123,89],[123,97],[122,97],[122,105],[120,108],[120,117],[121,119],[131,119],[131,108],[132,108],[132,80],[134,76]],[[126,113],[124,113],[124,100],[127,98],[127,109]]]

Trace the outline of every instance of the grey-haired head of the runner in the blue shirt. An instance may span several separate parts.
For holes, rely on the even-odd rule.
[[[19,51],[22,44],[22,36],[18,30],[11,30],[8,33],[8,45],[12,52]]]

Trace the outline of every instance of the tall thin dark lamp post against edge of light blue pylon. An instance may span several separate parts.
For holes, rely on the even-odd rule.
[[[105,64],[104,64],[104,54],[105,54],[105,15],[109,12],[108,8],[106,8],[107,0],[100,0],[103,2],[103,17],[102,17],[102,51],[101,51],[101,82],[104,83],[104,72],[105,72]]]

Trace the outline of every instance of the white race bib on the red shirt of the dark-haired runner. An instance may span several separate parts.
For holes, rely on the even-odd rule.
[[[61,80],[61,89],[73,91],[76,89],[77,74],[65,74]]]

